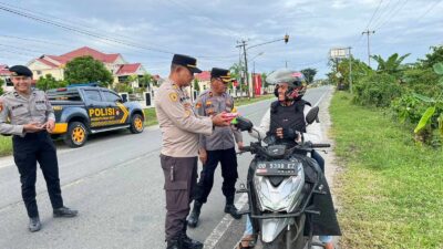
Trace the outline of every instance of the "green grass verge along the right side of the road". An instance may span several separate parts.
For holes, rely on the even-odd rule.
[[[338,92],[330,107],[342,248],[443,248],[443,149],[350,100]]]

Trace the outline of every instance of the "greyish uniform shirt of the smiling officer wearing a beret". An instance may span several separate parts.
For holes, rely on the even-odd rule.
[[[16,90],[0,96],[0,133],[24,136],[23,125],[55,121],[54,111],[43,91],[33,90],[25,97]]]

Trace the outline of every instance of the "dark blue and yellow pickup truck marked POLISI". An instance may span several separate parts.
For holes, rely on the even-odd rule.
[[[126,128],[137,134],[144,129],[142,105],[124,102],[112,90],[71,85],[47,94],[55,114],[53,136],[62,136],[70,147],[83,146],[90,134]]]

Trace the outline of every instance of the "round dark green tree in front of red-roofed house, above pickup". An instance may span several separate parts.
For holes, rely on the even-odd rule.
[[[99,82],[101,86],[113,83],[114,77],[101,61],[81,56],[68,62],[64,79],[70,84]]]

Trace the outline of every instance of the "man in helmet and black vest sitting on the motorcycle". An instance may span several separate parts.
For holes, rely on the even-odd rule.
[[[275,95],[277,101],[271,103],[270,108],[261,120],[260,126],[255,127],[257,132],[249,132],[254,137],[275,136],[277,144],[295,144],[301,142],[318,143],[321,142],[319,134],[319,123],[307,126],[306,115],[311,110],[311,104],[302,98],[306,93],[306,82],[302,73],[281,69],[268,75],[266,81],[276,85]],[[312,152],[311,157],[316,159],[320,168],[324,172],[324,160],[320,154]],[[333,205],[327,209],[333,211]],[[333,235],[340,235],[340,228],[334,214],[331,215],[331,225],[326,228],[332,229]],[[329,218],[329,217],[328,217]],[[327,219],[328,219],[327,218]],[[322,224],[320,225],[322,226]],[[323,230],[324,229],[320,229]],[[324,243],[326,249],[333,249],[331,234],[319,232],[320,240]],[[255,242],[254,230],[249,217],[247,217],[246,230],[239,249],[253,248]]]

